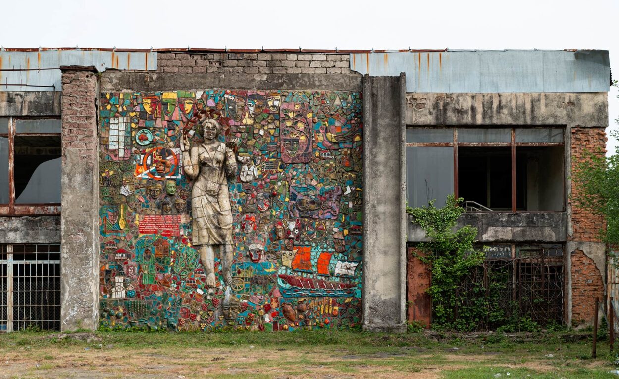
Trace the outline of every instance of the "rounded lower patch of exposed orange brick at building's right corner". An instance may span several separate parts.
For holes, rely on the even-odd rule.
[[[595,297],[604,301],[604,283],[594,260],[582,250],[571,253],[572,262],[572,323],[591,323],[595,312]]]

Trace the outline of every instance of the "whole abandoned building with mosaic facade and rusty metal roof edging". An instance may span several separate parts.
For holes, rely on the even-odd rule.
[[[506,298],[590,323],[569,178],[609,83],[607,51],[2,49],[0,331],[430,323],[405,204],[449,194]]]

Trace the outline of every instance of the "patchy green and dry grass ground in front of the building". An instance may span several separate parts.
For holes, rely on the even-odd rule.
[[[591,359],[590,339],[565,334],[18,332],[0,335],[0,378],[617,377],[607,342]]]

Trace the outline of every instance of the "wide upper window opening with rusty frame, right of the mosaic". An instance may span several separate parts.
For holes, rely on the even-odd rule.
[[[406,138],[410,207],[453,193],[467,211],[564,210],[561,127],[414,127]]]

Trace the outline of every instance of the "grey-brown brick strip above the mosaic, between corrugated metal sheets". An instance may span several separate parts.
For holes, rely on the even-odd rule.
[[[157,71],[180,74],[356,74],[348,54],[159,53]]]

